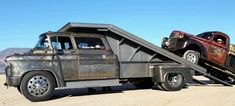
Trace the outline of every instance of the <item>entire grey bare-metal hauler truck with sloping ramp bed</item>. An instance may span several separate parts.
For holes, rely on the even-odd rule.
[[[17,87],[31,101],[49,99],[55,88],[123,83],[145,88],[159,84],[175,91],[192,80],[191,69],[200,69],[109,24],[69,23],[39,38],[28,53],[5,59],[5,85]]]

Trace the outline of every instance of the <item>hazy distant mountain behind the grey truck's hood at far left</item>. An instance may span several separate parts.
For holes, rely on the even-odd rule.
[[[3,51],[0,51],[0,73],[4,72],[5,68],[4,60],[7,56],[13,55],[15,53],[22,54],[29,50],[30,50],[29,48],[8,48]]]

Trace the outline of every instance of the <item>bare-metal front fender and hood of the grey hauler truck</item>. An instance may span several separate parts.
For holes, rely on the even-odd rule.
[[[22,57],[21,57],[22,58]],[[57,60],[33,59],[33,57],[23,57],[22,60],[8,61],[10,66],[6,70],[6,77],[9,86],[18,86],[22,78],[32,71],[48,71],[56,80],[57,87],[64,87],[64,75],[61,70],[61,63]],[[12,83],[10,83],[12,82]]]

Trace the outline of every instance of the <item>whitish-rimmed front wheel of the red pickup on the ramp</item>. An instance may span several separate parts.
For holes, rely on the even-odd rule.
[[[187,61],[193,63],[193,64],[198,64],[199,56],[200,56],[200,54],[197,51],[187,50],[184,53],[183,58],[186,59]]]

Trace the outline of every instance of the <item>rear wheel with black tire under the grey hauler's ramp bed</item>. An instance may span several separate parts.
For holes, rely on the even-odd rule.
[[[184,78],[179,73],[167,73],[164,78],[164,82],[161,82],[161,86],[166,91],[178,91],[181,90],[184,85]]]

